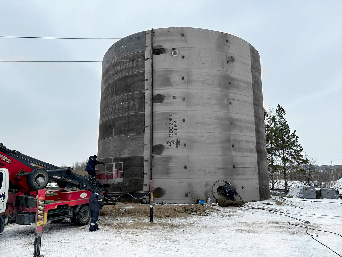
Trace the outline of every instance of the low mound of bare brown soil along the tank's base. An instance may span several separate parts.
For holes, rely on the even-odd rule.
[[[185,212],[190,208],[196,209],[198,213],[202,215],[206,214],[204,211],[213,211],[215,208],[208,205],[177,205],[177,204],[166,204],[166,205],[154,205],[153,217],[188,217],[192,214]],[[185,210],[185,211],[184,211]],[[101,209],[101,216],[141,216],[149,217],[150,207],[148,204],[135,204],[135,203],[118,203],[117,205],[105,205]]]

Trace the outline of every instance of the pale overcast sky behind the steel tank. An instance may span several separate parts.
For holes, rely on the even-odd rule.
[[[250,42],[264,107],[286,110],[309,158],[342,164],[342,1],[5,1],[0,36],[121,38],[198,27]],[[117,39],[0,38],[0,60],[102,60]],[[0,142],[60,166],[97,153],[101,62],[0,62]]]

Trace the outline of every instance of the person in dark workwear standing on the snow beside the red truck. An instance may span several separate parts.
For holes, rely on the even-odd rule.
[[[95,186],[93,191],[91,191],[89,198],[89,209],[91,215],[89,231],[96,231],[100,229],[97,225],[97,219],[103,205],[102,189]]]

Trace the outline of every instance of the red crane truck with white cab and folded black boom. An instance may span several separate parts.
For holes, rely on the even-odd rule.
[[[35,223],[40,212],[41,217],[44,215],[44,224],[65,218],[71,218],[74,224],[87,224],[90,193],[99,182],[72,170],[23,155],[0,143],[0,233],[8,223]],[[37,210],[38,190],[49,181],[55,181],[61,188],[76,186],[80,190],[47,191],[44,206]]]

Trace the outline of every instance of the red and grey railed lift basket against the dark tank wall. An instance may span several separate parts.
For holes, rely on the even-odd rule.
[[[97,166],[96,179],[103,185],[123,182],[123,163],[110,162],[103,165],[103,170]]]

